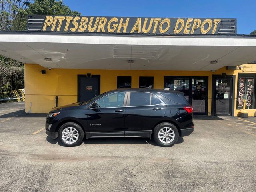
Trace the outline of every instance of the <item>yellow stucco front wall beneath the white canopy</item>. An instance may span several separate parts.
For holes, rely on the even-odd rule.
[[[251,67],[251,65],[246,65]],[[46,74],[41,74],[46,70]],[[91,73],[100,75],[100,92],[116,89],[117,76],[132,76],[132,88],[139,87],[140,76],[154,76],[154,88],[164,88],[164,76],[208,76],[208,115],[211,114],[212,74],[236,75],[241,70],[211,71],[146,71],[146,70],[84,70],[84,69],[52,69],[48,70],[38,64],[25,64],[25,111],[27,113],[48,113],[55,106],[55,96],[58,96],[58,106],[77,102],[77,75]],[[246,71],[247,73],[248,71]],[[250,70],[250,72],[253,72]],[[255,72],[254,72],[255,73]],[[236,100],[236,94],[234,95]],[[235,102],[236,108],[236,102]],[[235,115],[239,110],[234,110]],[[256,110],[248,110],[254,116]]]

